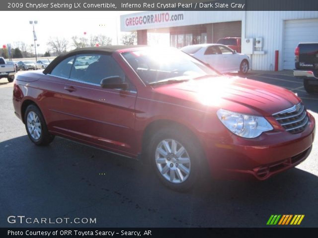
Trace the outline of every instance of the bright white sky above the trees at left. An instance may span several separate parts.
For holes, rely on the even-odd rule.
[[[5,24],[1,24],[0,46],[22,41],[34,44],[33,28],[29,21],[37,20],[35,32],[38,53],[45,53],[50,37],[66,38],[71,42],[72,36],[89,39],[90,35],[106,35],[112,38],[112,44],[121,44],[120,15],[136,11],[0,11]],[[86,35],[84,35],[86,32]]]

